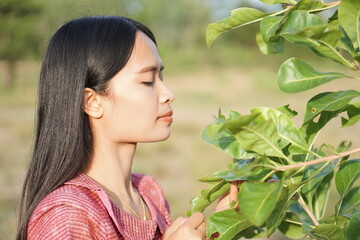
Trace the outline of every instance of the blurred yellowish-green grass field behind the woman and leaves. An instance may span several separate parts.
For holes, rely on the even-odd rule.
[[[360,89],[359,82],[341,80],[305,93],[285,94],[275,84],[277,66],[284,56],[270,61],[269,56],[260,57],[254,49],[223,52],[220,46],[207,52],[187,50],[184,58],[163,53],[165,82],[176,95],[172,136],[161,143],[140,144],[133,170],[158,179],[173,218],[184,216],[191,207],[189,200],[204,187],[197,179],[225,169],[231,161],[200,139],[202,129],[219,108],[223,112],[233,109],[247,113],[253,107],[290,103],[299,112],[295,122],[300,124],[306,101],[317,92]],[[327,69],[332,66],[335,65],[326,65]],[[38,74],[38,62],[22,62],[14,87],[9,90],[0,85],[0,235],[4,240],[12,239],[15,233],[20,187],[31,152]],[[0,82],[1,78],[0,74]],[[353,146],[359,146],[359,132],[359,124],[340,129],[340,123],[334,121],[318,142],[337,145],[349,139]]]

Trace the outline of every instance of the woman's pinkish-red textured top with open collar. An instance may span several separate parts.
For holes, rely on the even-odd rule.
[[[28,239],[161,239],[171,218],[160,185],[139,173],[132,175],[132,184],[151,220],[118,208],[93,179],[80,174],[38,204],[29,221]]]

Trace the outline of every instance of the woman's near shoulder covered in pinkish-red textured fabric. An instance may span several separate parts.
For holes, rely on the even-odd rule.
[[[34,209],[28,226],[29,239],[95,238],[103,228],[102,219],[107,217],[99,201],[89,189],[61,186]]]

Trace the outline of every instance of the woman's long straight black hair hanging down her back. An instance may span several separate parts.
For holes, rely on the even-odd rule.
[[[40,73],[32,158],[20,204],[17,240],[27,238],[34,208],[50,192],[84,171],[92,152],[84,89],[105,94],[108,81],[128,62],[136,32],[155,44],[144,25],[119,16],[72,20],[54,34]]]

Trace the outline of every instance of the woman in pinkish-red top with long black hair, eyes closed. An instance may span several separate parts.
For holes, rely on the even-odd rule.
[[[17,239],[205,239],[201,213],[171,223],[139,142],[170,135],[173,93],[156,41],[124,17],[63,25],[47,48]]]

